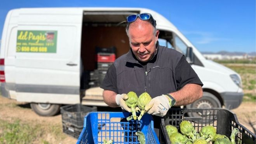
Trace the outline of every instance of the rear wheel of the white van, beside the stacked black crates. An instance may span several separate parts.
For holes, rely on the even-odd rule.
[[[60,104],[44,104],[44,103],[31,103],[31,108],[37,115],[40,116],[54,116],[59,112]]]

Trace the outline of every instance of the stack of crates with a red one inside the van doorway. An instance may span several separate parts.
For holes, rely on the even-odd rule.
[[[99,84],[103,82],[103,79],[108,71],[108,68],[113,64],[116,59],[116,48],[101,48],[96,47],[96,67],[98,70]]]

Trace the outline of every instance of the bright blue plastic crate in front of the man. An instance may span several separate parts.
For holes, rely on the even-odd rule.
[[[140,121],[126,121],[130,115],[127,112],[88,113],[77,144],[102,144],[104,140],[110,139],[113,144],[139,144],[135,135],[137,131],[145,134],[147,144],[160,144],[151,115],[145,114]]]

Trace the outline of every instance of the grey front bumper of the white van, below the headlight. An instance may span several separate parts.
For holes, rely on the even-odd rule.
[[[241,103],[244,96],[242,92],[223,92],[220,94],[226,109],[235,109]]]

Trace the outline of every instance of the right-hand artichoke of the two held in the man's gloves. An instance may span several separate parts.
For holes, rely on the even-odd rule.
[[[141,120],[142,116],[146,112],[145,106],[151,101],[151,99],[152,98],[150,97],[150,95],[147,92],[143,92],[141,95],[139,95],[138,107],[141,109],[141,114],[139,115],[138,120]],[[150,108],[147,108],[147,109],[150,109]]]

